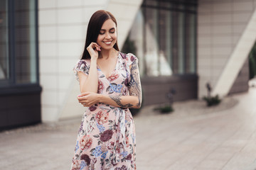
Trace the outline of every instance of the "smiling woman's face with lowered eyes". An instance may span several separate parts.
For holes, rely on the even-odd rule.
[[[97,45],[102,49],[111,50],[117,42],[117,26],[112,19],[108,19],[103,23],[100,33],[97,37]]]

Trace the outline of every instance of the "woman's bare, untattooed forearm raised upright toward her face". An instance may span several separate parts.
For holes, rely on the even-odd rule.
[[[89,75],[86,81],[80,84],[81,93],[94,92],[97,94],[98,76],[97,76],[97,60],[91,60]]]

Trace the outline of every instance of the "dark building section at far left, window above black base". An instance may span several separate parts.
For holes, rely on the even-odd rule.
[[[0,1],[0,130],[41,122],[37,1]]]

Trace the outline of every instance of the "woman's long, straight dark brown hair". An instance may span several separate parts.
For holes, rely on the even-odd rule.
[[[87,27],[85,49],[82,52],[81,60],[90,59],[90,54],[86,48],[90,45],[91,42],[97,41],[97,37],[100,33],[100,29],[102,28],[103,23],[105,23],[105,21],[107,21],[108,19],[112,19],[112,21],[114,21],[115,25],[117,26],[117,20],[109,11],[100,10],[92,14],[92,17],[90,18],[90,21]],[[117,42],[114,44],[114,49],[119,51]]]

